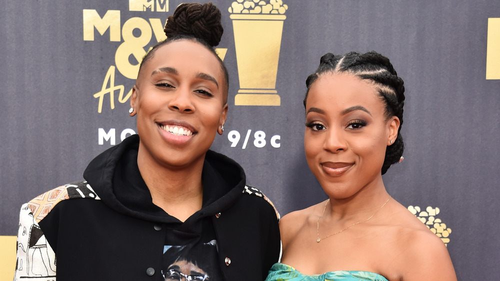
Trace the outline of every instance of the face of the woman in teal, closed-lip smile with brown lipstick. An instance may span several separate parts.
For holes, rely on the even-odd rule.
[[[348,73],[321,74],[305,110],[307,164],[327,194],[342,199],[382,184],[385,149],[399,120],[386,118],[373,83]]]

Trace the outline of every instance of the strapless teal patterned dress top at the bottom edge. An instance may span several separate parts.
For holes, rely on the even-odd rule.
[[[383,276],[365,271],[333,271],[321,275],[303,275],[285,264],[276,263],[265,281],[388,281]]]

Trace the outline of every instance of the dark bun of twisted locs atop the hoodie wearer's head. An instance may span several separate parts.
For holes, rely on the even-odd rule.
[[[204,40],[214,47],[222,37],[220,10],[211,2],[180,4],[165,24],[165,35],[187,35]]]

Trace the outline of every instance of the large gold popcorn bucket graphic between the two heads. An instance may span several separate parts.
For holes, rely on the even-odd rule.
[[[239,75],[234,105],[280,105],[276,75],[287,8],[282,0],[236,0],[229,7]]]

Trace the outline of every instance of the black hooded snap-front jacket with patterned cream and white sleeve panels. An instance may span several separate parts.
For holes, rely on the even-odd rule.
[[[151,200],[147,189],[123,191],[116,179],[123,168],[120,163],[133,163],[136,167],[136,162],[126,157],[133,160],[135,153],[136,159],[133,151],[137,146],[137,136],[125,139],[90,162],[83,175],[86,181],[59,187],[23,205],[21,221],[26,221],[22,219],[22,210],[31,211],[33,225],[27,228],[38,233],[29,237],[38,242],[27,243],[24,248],[39,249],[42,245],[40,251],[45,251],[46,239],[48,258],[42,258],[41,263],[32,260],[28,265],[30,256],[26,253],[30,252],[18,250],[15,279],[30,276],[33,269],[47,268],[52,263],[53,250],[58,281],[163,280],[158,270],[161,247],[176,219],[165,215],[152,202],[145,207],[134,205],[140,200]],[[207,152],[202,181],[203,207],[186,222],[211,220],[224,280],[264,280],[280,253],[275,209],[258,190],[245,186],[241,167],[221,154]],[[26,266],[19,270],[19,259],[24,255]],[[27,272],[26,267],[31,271]],[[50,272],[47,270],[45,276],[51,276]]]

